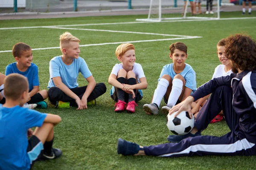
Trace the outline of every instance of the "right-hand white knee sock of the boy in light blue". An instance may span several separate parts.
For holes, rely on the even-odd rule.
[[[182,92],[182,87],[183,87],[182,80],[180,80],[180,79],[172,80],[172,91],[170,93],[167,105],[174,106],[176,104],[176,102],[179,99],[180,94]]]

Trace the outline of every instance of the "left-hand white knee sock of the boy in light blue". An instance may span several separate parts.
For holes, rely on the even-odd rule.
[[[158,107],[160,107],[160,102],[163,99],[163,96],[166,94],[166,90],[169,86],[169,82],[167,79],[160,79],[158,84],[157,84],[157,88],[154,92],[154,97],[152,100],[152,103],[155,103],[158,105]]]

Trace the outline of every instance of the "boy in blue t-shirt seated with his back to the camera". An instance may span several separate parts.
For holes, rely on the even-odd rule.
[[[29,170],[36,160],[61,156],[60,149],[52,148],[53,127],[61,122],[61,117],[21,107],[29,95],[26,77],[9,74],[4,84],[6,102],[0,104],[0,169]],[[34,133],[32,127],[36,127]],[[27,136],[31,136],[29,140]]]

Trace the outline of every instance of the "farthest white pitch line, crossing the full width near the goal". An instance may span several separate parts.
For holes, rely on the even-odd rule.
[[[256,19],[256,17],[242,17],[242,18],[221,18],[219,20],[247,20],[247,19]],[[193,19],[193,20],[166,20],[161,21],[162,23],[170,23],[170,22],[190,22],[190,21],[218,21],[213,19]],[[69,26],[100,26],[100,25],[116,25],[116,24],[139,24],[139,23],[160,23],[158,21],[142,21],[142,22],[123,22],[123,23],[95,23],[95,24],[74,24],[74,25],[58,25],[52,27],[69,27]],[[0,28],[0,30],[6,29],[26,29],[26,28],[45,28],[48,26],[31,26],[31,27],[10,27],[10,28]]]

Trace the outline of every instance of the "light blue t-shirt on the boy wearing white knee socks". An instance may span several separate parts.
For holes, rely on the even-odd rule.
[[[173,70],[173,63],[163,66],[163,69],[158,81],[163,77],[164,74],[168,74],[169,76],[172,77],[172,79],[177,75]],[[186,64],[184,70],[179,74],[183,76],[186,81],[185,87],[190,88],[192,90],[192,93],[195,92],[196,81],[195,81],[195,71],[193,70],[193,68],[189,64]]]

